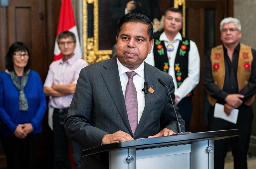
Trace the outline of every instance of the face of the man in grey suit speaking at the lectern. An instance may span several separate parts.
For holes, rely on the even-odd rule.
[[[130,70],[138,68],[151,52],[154,40],[149,41],[148,25],[126,22],[117,39],[117,58]]]

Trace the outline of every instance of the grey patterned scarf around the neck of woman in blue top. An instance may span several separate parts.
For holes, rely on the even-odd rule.
[[[26,99],[26,96],[24,94],[24,87],[28,80],[28,72],[23,72],[23,76],[21,77],[21,80],[19,80],[19,77],[17,76],[15,71],[10,72],[12,82],[15,84],[15,86],[20,91],[19,96],[19,107],[21,111],[27,111],[28,110],[28,101]]]

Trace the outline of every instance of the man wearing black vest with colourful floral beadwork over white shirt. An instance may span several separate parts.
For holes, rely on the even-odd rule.
[[[192,115],[193,89],[199,82],[200,58],[195,42],[183,38],[182,13],[177,8],[169,8],[163,21],[164,32],[155,33],[154,46],[145,62],[157,67],[173,77],[175,102],[189,131]]]

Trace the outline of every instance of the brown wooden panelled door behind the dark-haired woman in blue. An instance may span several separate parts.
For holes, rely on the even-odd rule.
[[[47,73],[44,0],[11,0],[7,13],[7,47],[24,42],[31,53],[31,69],[44,79]]]

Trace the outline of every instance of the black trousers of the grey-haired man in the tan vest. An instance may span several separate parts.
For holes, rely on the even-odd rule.
[[[237,123],[233,124],[223,119],[213,117],[214,107],[208,112],[209,131],[238,129],[239,136],[214,141],[214,169],[224,169],[225,157],[228,151],[228,141],[234,157],[234,169],[247,169],[247,153],[252,131],[253,111],[251,106],[242,105],[239,108]]]

